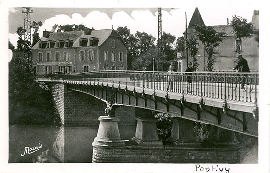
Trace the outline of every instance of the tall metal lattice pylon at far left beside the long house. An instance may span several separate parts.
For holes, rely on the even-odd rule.
[[[24,56],[27,59],[27,62],[30,66],[32,66],[32,53],[31,53],[31,16],[30,14],[33,12],[31,8],[25,8],[22,10],[24,13]]]

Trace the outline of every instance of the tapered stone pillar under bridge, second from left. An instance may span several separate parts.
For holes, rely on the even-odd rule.
[[[132,140],[139,145],[163,145],[159,140],[157,131],[157,119],[136,117],[137,127],[135,137]]]

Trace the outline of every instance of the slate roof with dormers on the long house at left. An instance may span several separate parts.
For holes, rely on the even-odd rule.
[[[96,37],[99,39],[98,46],[102,45],[104,41],[110,36],[118,36],[116,31],[113,29],[101,29],[101,30],[92,30],[91,35],[85,35],[84,31],[74,31],[74,32],[54,32],[50,33],[49,38],[42,37],[41,41],[48,41],[48,40],[73,40],[73,46],[72,47],[79,47],[79,39],[86,38],[89,39],[91,37]],[[32,49],[38,49],[38,42],[32,47]]]

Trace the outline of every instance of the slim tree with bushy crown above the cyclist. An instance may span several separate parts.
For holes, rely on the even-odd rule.
[[[234,15],[231,21],[231,27],[233,28],[233,33],[235,34],[235,37],[239,39],[239,42],[237,42],[236,45],[236,52],[240,53],[242,39],[252,36],[253,25],[251,24],[251,22],[247,23],[247,19]]]

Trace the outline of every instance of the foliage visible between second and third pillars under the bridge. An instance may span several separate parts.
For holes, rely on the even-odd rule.
[[[173,115],[159,112],[154,117],[158,119],[157,129],[159,138],[166,140],[171,134]]]

